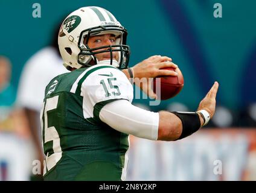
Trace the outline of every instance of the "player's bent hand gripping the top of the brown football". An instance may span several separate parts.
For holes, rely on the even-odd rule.
[[[152,90],[153,78],[161,75],[178,75],[177,72],[162,69],[167,67],[178,68],[178,66],[171,61],[170,57],[153,55],[133,66],[135,85],[140,87],[140,89],[150,96],[150,98],[156,98],[156,93]]]

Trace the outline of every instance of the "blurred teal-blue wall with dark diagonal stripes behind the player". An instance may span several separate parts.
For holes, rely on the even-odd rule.
[[[213,16],[217,2],[222,18]],[[41,18],[32,16],[34,3],[41,5]],[[160,109],[173,101],[195,109],[215,80],[218,104],[237,110],[256,102],[256,1],[249,0],[1,0],[0,55],[13,63],[16,88],[25,62],[51,42],[62,17],[89,5],[106,8],[127,28],[130,66],[155,54],[179,65],[184,89]]]

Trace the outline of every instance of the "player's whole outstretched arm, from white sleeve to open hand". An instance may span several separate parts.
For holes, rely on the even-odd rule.
[[[199,104],[198,110],[206,110],[210,118],[215,112],[218,86],[218,83],[214,83]],[[125,100],[114,101],[104,106],[100,111],[100,119],[120,132],[163,141],[185,138],[209,121],[200,113],[149,112]]]

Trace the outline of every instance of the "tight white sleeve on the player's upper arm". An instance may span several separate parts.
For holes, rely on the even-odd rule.
[[[110,127],[138,138],[158,139],[159,113],[133,106],[126,100],[106,104],[100,119]]]

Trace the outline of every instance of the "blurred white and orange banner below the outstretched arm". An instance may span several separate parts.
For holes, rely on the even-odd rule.
[[[175,142],[130,138],[126,180],[255,180],[255,129],[206,129]]]

